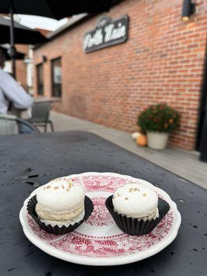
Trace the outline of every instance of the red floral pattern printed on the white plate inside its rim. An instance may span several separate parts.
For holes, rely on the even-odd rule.
[[[74,232],[59,236],[48,234],[27,215],[32,233],[53,248],[73,255],[115,257],[144,251],[160,242],[170,232],[173,223],[172,210],[148,235],[132,237],[121,233],[115,226],[105,206],[106,197],[120,185],[132,182],[131,179],[101,174],[80,175],[73,179],[82,181],[95,206],[88,220]],[[102,229],[104,230],[101,232]]]

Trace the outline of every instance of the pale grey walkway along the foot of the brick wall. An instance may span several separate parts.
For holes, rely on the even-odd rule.
[[[121,146],[121,148],[125,148],[136,155],[144,157],[152,163],[207,189],[207,164],[198,160],[198,154],[196,152],[188,152],[175,148],[166,148],[166,150],[162,151],[150,150],[149,148],[137,146],[130,134],[126,132],[63,115],[55,111],[51,112],[50,117],[54,123],[55,131],[85,130],[93,132]]]

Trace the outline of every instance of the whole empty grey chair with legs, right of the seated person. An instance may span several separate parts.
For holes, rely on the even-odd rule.
[[[54,126],[49,119],[51,108],[51,101],[34,102],[32,105],[32,118],[28,121],[30,121],[33,126],[42,126],[44,132],[47,132],[48,124],[50,124],[50,129],[54,132]]]

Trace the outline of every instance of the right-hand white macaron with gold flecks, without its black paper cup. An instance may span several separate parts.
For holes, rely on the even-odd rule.
[[[112,204],[115,212],[132,219],[146,221],[159,217],[157,193],[141,181],[119,187],[112,197]]]

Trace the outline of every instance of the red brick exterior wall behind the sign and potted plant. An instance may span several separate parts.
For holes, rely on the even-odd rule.
[[[190,21],[181,20],[182,0],[126,0],[68,30],[34,52],[44,63],[45,96],[51,95],[50,59],[62,57],[62,101],[56,110],[127,132],[149,105],[166,102],[181,112],[170,144],[195,148],[206,48],[207,0],[197,0]],[[88,54],[83,34],[99,17],[130,17],[126,43]],[[34,90],[37,90],[34,75]]]

